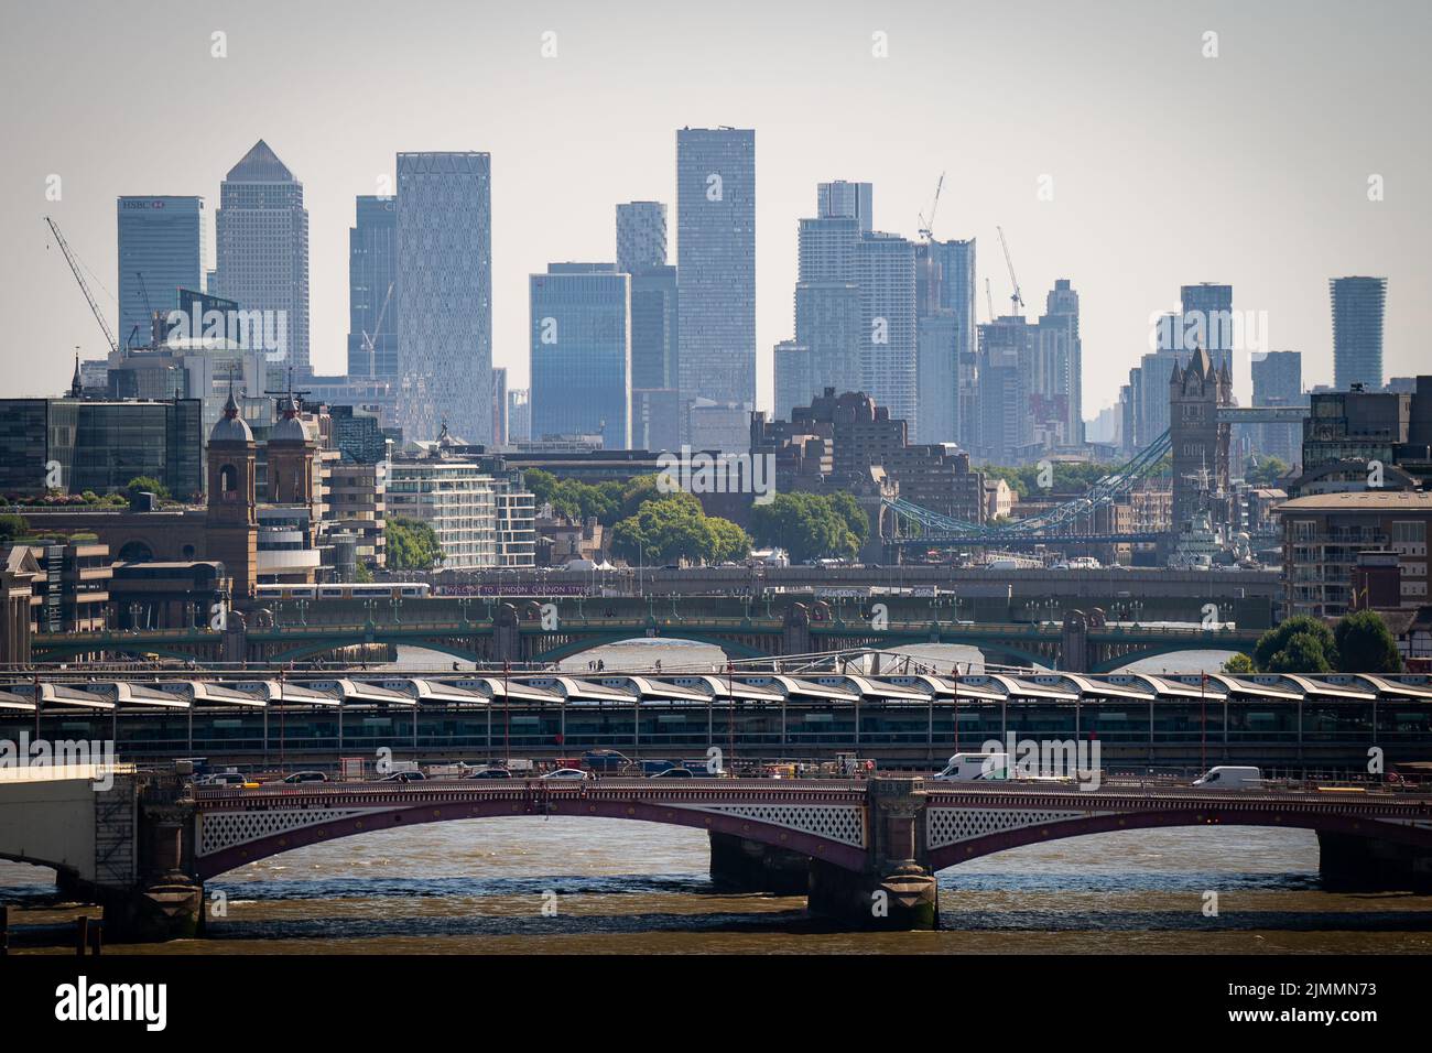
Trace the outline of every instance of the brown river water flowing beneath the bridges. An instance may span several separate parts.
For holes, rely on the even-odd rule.
[[[706,660],[707,650],[663,649],[663,665]],[[922,658],[948,662],[951,649],[939,650]],[[616,669],[652,655],[619,645],[601,658]],[[435,665],[400,656],[410,662]],[[430,824],[223,874],[209,884],[223,913],[211,914],[203,938],[107,953],[1432,953],[1432,895],[1323,891],[1307,831],[1127,831],[974,860],[939,874],[934,933],[835,931],[806,915],[803,897],[716,890],[707,865],[705,832],[677,827]],[[1216,915],[1204,913],[1207,893]],[[0,903],[17,928],[82,910],[56,901],[52,871],[10,862],[0,862]]]

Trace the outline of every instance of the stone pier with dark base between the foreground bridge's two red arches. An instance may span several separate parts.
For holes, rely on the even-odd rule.
[[[866,794],[869,862],[856,872],[812,860],[811,913],[855,928],[938,928],[935,875],[918,858],[925,781],[918,776],[876,778],[871,779]]]

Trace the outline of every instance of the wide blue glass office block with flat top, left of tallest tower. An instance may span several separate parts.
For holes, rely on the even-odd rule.
[[[531,431],[630,447],[632,287],[611,264],[551,264],[528,278]]]

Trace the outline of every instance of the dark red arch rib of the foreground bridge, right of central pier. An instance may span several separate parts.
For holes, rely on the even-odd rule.
[[[955,867],[982,855],[994,855],[1010,848],[1061,841],[1088,834],[1113,834],[1130,830],[1161,830],[1174,827],[1266,827],[1269,830],[1310,830],[1315,832],[1348,834],[1380,841],[1432,848],[1432,830],[1398,822],[1385,822],[1358,815],[1299,812],[1274,807],[1213,807],[1203,809],[1169,809],[1140,812],[1085,814],[1077,818],[1031,822],[955,844],[932,848],[927,854],[931,871]]]

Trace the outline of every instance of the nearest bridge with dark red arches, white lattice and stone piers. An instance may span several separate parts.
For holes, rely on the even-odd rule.
[[[427,822],[569,817],[707,832],[712,875],[808,894],[851,927],[938,924],[935,872],[1061,838],[1171,827],[1316,831],[1329,885],[1418,888],[1432,880],[1432,794],[1264,787],[1203,792],[1150,782],[1097,789],[863,781],[451,779],[205,789],[175,774],[21,769],[0,779],[0,857],[54,867],[105,904],[112,938],[192,934],[205,883],[282,852]],[[610,827],[600,828],[610,835]]]

